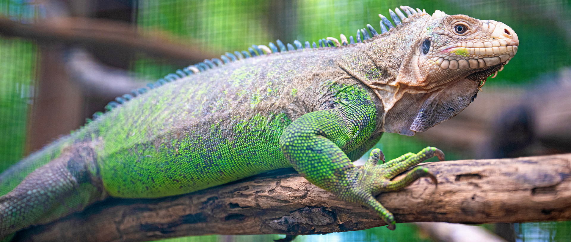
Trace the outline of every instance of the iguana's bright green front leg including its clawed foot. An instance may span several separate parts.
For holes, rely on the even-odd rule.
[[[420,166],[398,181],[391,179],[434,155],[443,160],[444,154],[439,149],[427,147],[417,154],[405,154],[377,165],[382,153],[375,149],[365,166],[355,167],[342,148],[347,150],[347,145],[362,143],[370,137],[367,126],[374,118],[346,111],[340,108],[304,114],[282,134],[282,151],[309,182],[343,200],[373,208],[389,224],[389,229],[395,229],[394,216],[375,196],[383,191],[399,190],[420,177],[431,177],[436,183],[434,175]]]

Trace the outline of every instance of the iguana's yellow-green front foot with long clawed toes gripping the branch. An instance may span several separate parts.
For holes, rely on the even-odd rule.
[[[444,153],[441,150],[435,147],[426,147],[419,153],[407,153],[387,163],[377,165],[379,160],[384,161],[384,155],[381,150],[374,149],[371,151],[365,166],[357,175],[355,186],[348,192],[352,198],[346,199],[373,208],[387,222],[387,228],[394,230],[396,227],[395,217],[375,199],[375,196],[381,192],[400,190],[421,177],[429,177],[432,179],[432,182],[437,184],[435,175],[428,168],[417,166],[407,171],[418,163],[435,156],[440,161],[444,161]],[[391,181],[392,178],[404,171],[407,171],[407,173],[405,173],[403,178]]]

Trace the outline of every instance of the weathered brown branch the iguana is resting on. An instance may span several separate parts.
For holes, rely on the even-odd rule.
[[[571,219],[571,154],[425,163],[421,178],[379,196],[397,222],[514,223]],[[298,174],[278,170],[188,195],[112,199],[18,234],[18,241],[148,241],[187,235],[314,234],[384,225]],[[397,225],[397,229],[398,229]]]

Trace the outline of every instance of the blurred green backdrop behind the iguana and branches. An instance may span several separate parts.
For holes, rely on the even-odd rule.
[[[66,1],[63,1],[66,3]],[[67,1],[69,3],[70,1]],[[80,1],[81,2],[81,1]],[[508,24],[520,39],[518,54],[488,80],[485,88],[522,88],[553,75],[571,62],[571,3],[569,1],[381,1],[381,0],[141,0],[107,1],[131,9],[130,21],[142,30],[160,30],[180,42],[214,54],[246,50],[252,44],[268,44],[275,39],[292,43],[309,42],[339,34],[355,35],[366,24],[379,26],[378,14],[388,16],[389,7],[409,5],[433,13],[467,14],[478,19],[494,19]],[[111,5],[110,5],[111,6]],[[112,5],[115,6],[115,5]],[[107,9],[111,8],[107,7]],[[103,9],[105,9],[103,7]],[[22,23],[45,18],[43,1],[0,0],[0,13]],[[91,16],[93,17],[93,16]],[[378,30],[378,28],[377,28]],[[192,41],[190,41],[192,40]],[[42,52],[29,40],[0,38],[0,170],[4,170],[34,150],[29,139],[31,110],[37,90]],[[215,56],[212,56],[215,57]],[[194,63],[187,63],[194,64]],[[172,61],[134,55],[126,69],[144,79],[158,79],[184,65]],[[141,86],[144,84],[142,83]],[[533,86],[537,87],[537,86]],[[103,105],[99,105],[103,110]],[[89,117],[89,108],[83,108]],[[77,128],[77,127],[76,127]],[[55,138],[55,137],[54,137]],[[429,145],[416,137],[385,134],[380,147],[387,158],[417,151]],[[448,159],[467,157],[444,147]],[[486,225],[493,229],[493,225]],[[571,241],[571,223],[524,223],[515,225],[516,241]],[[195,236],[168,241],[270,241],[278,235]],[[167,241],[167,240],[165,240]],[[384,227],[365,231],[300,236],[296,241],[429,241],[412,224],[396,231]]]

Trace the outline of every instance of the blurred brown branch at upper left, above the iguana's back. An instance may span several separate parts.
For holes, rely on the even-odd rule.
[[[39,42],[130,48],[151,56],[187,63],[195,63],[214,56],[194,46],[174,43],[164,38],[165,35],[149,33],[143,35],[131,24],[112,20],[60,17],[22,24],[0,18],[0,34]]]

